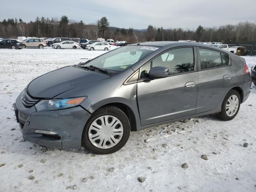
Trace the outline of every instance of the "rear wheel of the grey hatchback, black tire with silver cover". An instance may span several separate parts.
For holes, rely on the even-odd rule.
[[[233,100],[231,99],[230,100],[231,102],[230,102],[229,99],[232,96],[233,96]],[[235,99],[234,99],[235,97],[238,99],[237,106],[236,106],[236,104],[233,103],[233,101],[235,101]],[[230,90],[226,94],[226,96],[222,102],[221,112],[218,113],[218,117],[224,121],[229,121],[229,120],[234,119],[240,109],[240,103],[241,103],[241,98],[240,98],[240,94],[238,93],[238,91],[236,91],[234,89]],[[229,115],[228,115],[228,113],[229,113],[228,109],[230,109],[230,108],[226,108],[226,105],[229,105],[229,106],[231,105],[230,108],[233,110],[233,112],[232,112],[232,110],[230,111],[231,114],[229,114]],[[232,106],[234,106],[234,107],[236,106],[236,108],[233,108]],[[236,110],[236,111],[234,112],[234,110]]]

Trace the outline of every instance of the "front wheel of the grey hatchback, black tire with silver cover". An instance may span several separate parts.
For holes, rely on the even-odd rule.
[[[113,121],[112,126],[114,126],[114,128],[111,126]],[[102,128],[103,131],[98,131],[100,129],[96,128],[96,126],[92,126],[92,124]],[[109,128],[110,131],[118,129],[119,132],[110,133],[107,128]],[[97,134],[100,136],[97,136]],[[82,146],[95,154],[111,154],[120,150],[126,144],[129,136],[130,122],[126,114],[116,106],[106,106],[96,110],[86,123],[82,134]],[[99,139],[95,140],[95,138]],[[106,139],[107,141],[105,141]]]

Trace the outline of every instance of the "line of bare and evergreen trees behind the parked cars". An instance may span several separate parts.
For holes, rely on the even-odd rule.
[[[17,36],[36,37],[70,37],[70,38],[111,38],[126,40],[130,43],[144,41],[178,41],[196,40],[198,42],[250,42],[256,41],[256,23],[239,22],[218,27],[199,25],[196,30],[182,28],[155,27],[148,25],[145,30],[110,27],[106,17],[95,23],[82,20],[70,20],[66,15],[61,18],[37,17],[34,21],[24,22],[21,18],[8,18],[0,21],[0,36],[16,38]]]

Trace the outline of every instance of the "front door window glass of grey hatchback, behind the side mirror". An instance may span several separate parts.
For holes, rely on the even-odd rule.
[[[194,71],[193,48],[178,48],[165,52],[152,61],[152,67],[167,67],[170,74]]]

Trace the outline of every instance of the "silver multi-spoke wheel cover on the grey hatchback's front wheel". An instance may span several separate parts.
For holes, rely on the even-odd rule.
[[[104,115],[92,122],[88,131],[88,137],[90,142],[97,148],[108,149],[120,142],[123,132],[123,125],[118,118]]]

